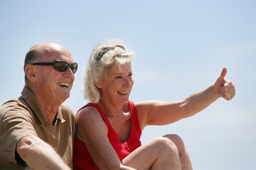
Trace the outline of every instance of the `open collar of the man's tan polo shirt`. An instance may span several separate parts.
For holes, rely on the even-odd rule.
[[[22,97],[24,98],[25,102],[29,105],[31,110],[34,112],[34,114],[37,116],[38,120],[41,122],[41,124],[44,124],[48,122],[47,118],[43,114],[42,109],[40,108],[36,97],[34,94],[29,90],[28,86],[24,86],[22,92],[21,92]],[[57,119],[60,119],[61,123],[65,122],[62,114],[61,114],[61,109],[59,107],[56,115]]]

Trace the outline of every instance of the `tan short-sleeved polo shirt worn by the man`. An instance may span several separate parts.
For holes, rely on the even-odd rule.
[[[21,96],[0,107],[0,169],[24,169],[26,163],[16,152],[17,141],[32,135],[51,145],[63,161],[73,168],[76,119],[70,106],[62,104],[56,123],[49,123],[35,96],[24,86]],[[19,166],[22,167],[19,167]]]

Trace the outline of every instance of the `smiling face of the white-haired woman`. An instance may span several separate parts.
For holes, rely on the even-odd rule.
[[[127,103],[134,84],[132,72],[131,63],[121,65],[121,71],[113,64],[107,77],[100,81],[101,100],[116,105]]]

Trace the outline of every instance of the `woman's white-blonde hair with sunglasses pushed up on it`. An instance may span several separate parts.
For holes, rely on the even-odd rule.
[[[84,99],[92,103],[100,101],[100,91],[95,85],[104,80],[111,66],[115,63],[121,70],[121,65],[131,63],[135,53],[121,41],[108,39],[100,41],[93,48],[90,58],[83,67],[83,95]]]

